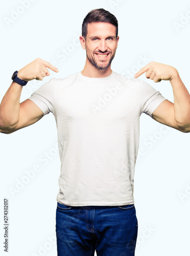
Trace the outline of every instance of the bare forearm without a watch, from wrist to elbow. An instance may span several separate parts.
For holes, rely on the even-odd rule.
[[[174,118],[179,126],[190,128],[190,95],[184,86],[179,73],[170,80],[174,94]]]

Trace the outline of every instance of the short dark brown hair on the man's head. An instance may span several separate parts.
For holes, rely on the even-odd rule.
[[[111,23],[116,27],[116,38],[118,36],[118,20],[117,18],[110,12],[104,10],[103,8],[101,9],[94,9],[90,11],[87,16],[83,20],[83,25],[82,25],[82,36],[87,37],[87,25],[89,23],[93,22],[107,22]]]

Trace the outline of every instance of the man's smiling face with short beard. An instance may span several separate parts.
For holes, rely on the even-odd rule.
[[[90,23],[87,28],[86,53],[90,63],[103,70],[111,65],[118,46],[116,27],[111,23]]]

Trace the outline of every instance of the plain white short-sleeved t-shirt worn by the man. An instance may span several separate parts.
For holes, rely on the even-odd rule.
[[[52,112],[61,159],[57,201],[71,206],[133,204],[139,120],[166,100],[148,83],[112,71],[51,78],[29,98]]]

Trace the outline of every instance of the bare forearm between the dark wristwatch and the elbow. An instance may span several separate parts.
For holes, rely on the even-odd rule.
[[[18,123],[21,92],[22,86],[13,81],[0,105],[0,131]]]

